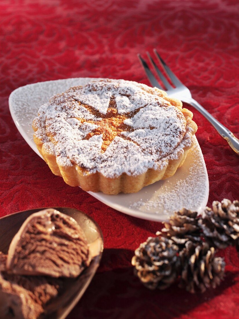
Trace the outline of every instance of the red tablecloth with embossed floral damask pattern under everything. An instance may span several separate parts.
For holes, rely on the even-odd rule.
[[[191,295],[171,286],[149,291],[133,276],[138,245],[162,224],[115,211],[54,176],[18,133],[11,91],[38,81],[124,78],[149,84],[136,54],[157,48],[211,114],[239,137],[238,1],[1,1],[1,216],[43,206],[75,207],[93,217],[105,240],[101,266],[73,318],[238,318],[239,259],[221,286]],[[196,111],[197,138],[213,200],[238,199],[239,157]]]

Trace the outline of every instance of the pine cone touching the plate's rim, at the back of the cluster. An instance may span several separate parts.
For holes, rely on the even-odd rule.
[[[163,222],[163,224],[164,228],[156,235],[170,238],[181,248],[187,241],[201,241],[196,211],[183,208],[170,217],[169,223]]]

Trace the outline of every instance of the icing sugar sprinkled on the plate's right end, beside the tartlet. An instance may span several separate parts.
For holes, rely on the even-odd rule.
[[[208,185],[205,185],[205,172],[203,171],[203,162],[200,161],[197,143],[190,149],[187,158],[190,159],[187,167],[184,165],[180,167],[173,178],[156,182],[155,186],[158,185],[156,187],[149,185],[144,188],[144,192],[141,192],[143,198],[138,198],[129,207],[134,210],[165,216],[170,216],[182,207],[200,213],[201,209],[206,206]],[[156,189],[154,193],[150,191],[153,187]],[[200,205],[200,203],[203,204]]]

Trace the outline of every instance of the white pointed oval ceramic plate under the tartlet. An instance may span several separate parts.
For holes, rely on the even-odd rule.
[[[39,156],[33,141],[32,121],[39,107],[57,93],[71,86],[84,85],[94,78],[70,78],[25,85],[14,90],[9,97],[12,119],[25,141]],[[195,144],[182,167],[174,176],[144,187],[135,194],[105,195],[92,193],[102,203],[128,215],[163,221],[182,207],[201,211],[209,193],[208,175],[203,155],[195,137]]]

